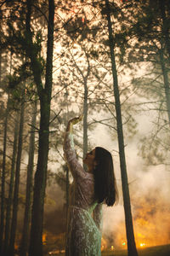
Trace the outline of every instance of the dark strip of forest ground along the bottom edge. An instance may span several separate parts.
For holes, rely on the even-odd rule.
[[[138,249],[139,256],[170,256],[170,244],[157,247]],[[46,256],[64,256],[65,253],[48,253]],[[108,250],[101,253],[102,256],[127,256],[127,250]]]

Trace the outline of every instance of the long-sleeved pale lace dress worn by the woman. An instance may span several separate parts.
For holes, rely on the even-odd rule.
[[[100,256],[102,205],[94,199],[94,175],[77,161],[69,132],[65,133],[64,152],[73,176],[65,255]]]

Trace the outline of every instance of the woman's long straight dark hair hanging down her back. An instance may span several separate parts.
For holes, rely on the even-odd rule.
[[[94,193],[99,203],[114,205],[117,196],[116,179],[111,153],[105,148],[95,148]]]

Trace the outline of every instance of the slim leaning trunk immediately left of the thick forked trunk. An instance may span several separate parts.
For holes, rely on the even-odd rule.
[[[35,149],[35,126],[37,119],[37,101],[34,102],[32,108],[32,119],[31,119],[31,135],[29,145],[29,159],[27,166],[27,179],[26,179],[26,207],[24,215],[24,226],[22,231],[22,239],[20,246],[20,256],[26,256],[29,246],[29,227],[31,221],[31,193],[32,193],[32,173],[34,168],[34,149]]]

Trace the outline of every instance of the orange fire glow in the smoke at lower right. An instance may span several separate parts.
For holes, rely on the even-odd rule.
[[[154,189],[147,195],[133,197],[133,230],[136,247],[143,249],[170,243],[169,207],[169,202],[164,195]],[[120,212],[120,208],[117,208],[117,212]],[[107,243],[106,247],[111,248],[113,245],[116,249],[127,249],[123,215],[120,219],[116,219],[115,216],[111,215],[112,219],[105,226],[105,232],[103,232]],[[109,219],[108,215],[107,218]],[[117,220],[116,224],[114,223],[115,219]],[[112,230],[110,229],[111,221],[113,221]]]

